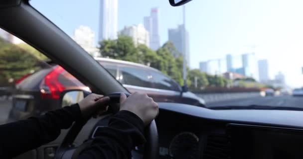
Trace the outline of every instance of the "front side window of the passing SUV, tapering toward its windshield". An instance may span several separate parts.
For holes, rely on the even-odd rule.
[[[157,89],[180,91],[179,85],[167,76],[151,71],[153,87]]]

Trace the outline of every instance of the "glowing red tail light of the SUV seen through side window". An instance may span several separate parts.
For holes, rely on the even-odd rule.
[[[42,98],[59,99],[60,93],[65,90],[62,83],[59,82],[58,77],[64,71],[61,66],[56,66],[48,73],[40,84],[40,92]]]

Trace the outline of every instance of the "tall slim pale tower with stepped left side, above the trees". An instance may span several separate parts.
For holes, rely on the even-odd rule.
[[[144,27],[150,33],[150,47],[156,50],[160,47],[159,9],[152,8],[151,15],[144,17]]]

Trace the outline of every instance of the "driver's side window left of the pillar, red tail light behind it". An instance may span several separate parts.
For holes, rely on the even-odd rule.
[[[60,93],[89,88],[42,53],[0,29],[0,124],[58,109]]]

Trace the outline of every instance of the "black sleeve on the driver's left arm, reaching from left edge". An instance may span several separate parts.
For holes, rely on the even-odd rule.
[[[55,140],[61,129],[81,119],[78,104],[49,111],[39,117],[31,117],[0,125],[0,159],[12,158]]]

